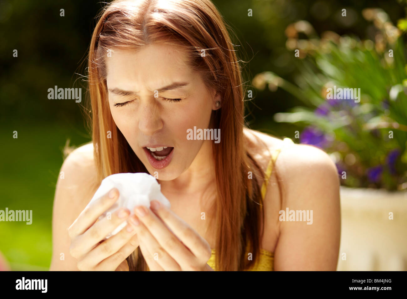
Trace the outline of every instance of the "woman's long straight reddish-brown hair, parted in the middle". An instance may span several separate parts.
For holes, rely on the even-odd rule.
[[[162,6],[160,6],[162,5]],[[105,59],[112,48],[137,50],[165,42],[187,50],[190,67],[205,84],[221,93],[214,111],[222,140],[213,145],[216,169],[216,270],[240,271],[260,254],[264,221],[258,179],[263,172],[247,152],[243,135],[244,94],[241,68],[221,15],[210,0],[118,0],[105,7],[92,34],[88,57],[92,105],[92,140],[98,181],[119,172],[147,172],[117,129],[107,98]],[[205,50],[205,55],[201,56]],[[204,56],[204,57],[203,57]],[[106,138],[107,131],[112,138]],[[259,231],[261,227],[261,232]],[[248,260],[246,251],[253,254]],[[140,248],[127,258],[130,270],[146,270]]]

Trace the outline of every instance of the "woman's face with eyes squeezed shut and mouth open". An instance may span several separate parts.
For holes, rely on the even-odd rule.
[[[213,140],[188,140],[187,130],[209,128],[219,96],[190,70],[182,48],[150,44],[138,52],[112,50],[106,57],[110,111],[150,174],[176,179],[197,155],[208,159]]]

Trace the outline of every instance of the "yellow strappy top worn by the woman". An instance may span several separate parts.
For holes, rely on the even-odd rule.
[[[294,143],[293,140],[291,140],[288,137],[285,137],[283,139],[284,142],[289,142],[289,143]],[[265,172],[265,179],[263,182],[263,185],[261,186],[261,196],[264,199],[264,196],[266,194],[267,190],[267,183],[269,182],[269,178],[271,176],[271,172],[273,171],[273,166],[276,162],[277,156],[280,153],[281,148],[276,149],[274,152],[271,153],[271,159],[269,162],[269,165],[267,166],[267,170]],[[246,251],[246,256],[249,252]],[[253,257],[254,259],[254,257]],[[215,269],[215,249],[212,249],[212,255],[210,259],[208,260],[208,265]],[[267,251],[265,249],[260,249],[260,256],[256,260],[256,263],[252,268],[246,271],[273,271],[274,270],[274,253]]]

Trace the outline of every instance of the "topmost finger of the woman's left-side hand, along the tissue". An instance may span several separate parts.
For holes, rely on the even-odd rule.
[[[113,197],[110,197],[113,192]],[[74,223],[68,228],[68,235],[71,239],[83,234],[89,227],[91,227],[99,216],[101,216],[109,207],[117,201],[119,192],[113,188],[101,198],[93,201],[88,207],[79,214]]]

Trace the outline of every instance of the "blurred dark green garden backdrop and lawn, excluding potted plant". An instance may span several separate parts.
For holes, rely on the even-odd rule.
[[[298,71],[294,55],[286,48],[287,26],[307,20],[320,35],[334,31],[374,39],[373,25],[363,19],[362,9],[380,7],[394,24],[404,17],[396,1],[289,1],[214,0],[224,19],[236,33],[233,44],[244,65],[243,79],[250,81],[264,71],[293,81]],[[12,270],[48,270],[52,253],[51,220],[55,184],[63,162],[67,140],[78,146],[90,141],[85,129],[82,102],[49,100],[48,88],[82,87],[83,62],[87,54],[99,1],[0,2],[0,103],[2,196],[0,210],[33,210],[33,223],[0,223],[0,251]],[[346,22],[340,17],[348,11]],[[60,9],[65,16],[60,16]],[[253,10],[253,17],[247,10]],[[18,57],[13,57],[13,50]],[[79,75],[81,74],[81,75]],[[247,121],[252,129],[276,136],[291,136],[293,124],[274,122],[277,112],[301,105],[278,89],[252,89]],[[18,138],[13,138],[18,131]]]

